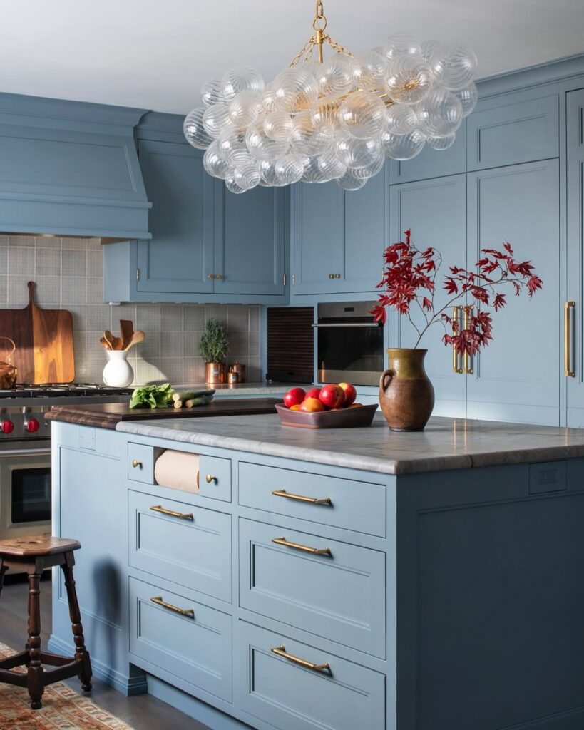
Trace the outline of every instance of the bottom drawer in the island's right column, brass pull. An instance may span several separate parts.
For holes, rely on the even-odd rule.
[[[279,730],[385,728],[385,675],[243,621],[235,631],[239,702],[249,715]]]

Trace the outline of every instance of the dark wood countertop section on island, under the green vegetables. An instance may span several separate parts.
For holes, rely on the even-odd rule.
[[[115,429],[120,421],[153,420],[155,418],[206,418],[218,415],[264,415],[275,413],[278,398],[215,399],[206,406],[195,408],[145,408],[131,410],[127,403],[94,403],[89,405],[61,405],[45,413],[47,420],[77,423],[79,426],[95,426],[98,429]]]

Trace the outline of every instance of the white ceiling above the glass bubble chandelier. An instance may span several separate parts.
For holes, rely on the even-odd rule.
[[[464,42],[480,77],[584,51],[583,0],[323,1],[353,52],[397,31]],[[230,66],[272,78],[313,15],[313,0],[3,0],[0,91],[184,114]]]

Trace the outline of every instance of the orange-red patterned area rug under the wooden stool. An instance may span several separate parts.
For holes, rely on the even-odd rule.
[[[13,654],[0,643],[0,658]],[[31,710],[28,691],[0,683],[0,730],[132,730],[62,682],[45,688],[42,709]]]

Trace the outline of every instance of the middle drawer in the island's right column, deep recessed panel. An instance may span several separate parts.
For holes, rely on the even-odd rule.
[[[242,608],[385,658],[385,553],[239,520],[239,556]]]

